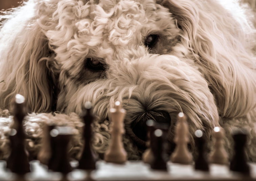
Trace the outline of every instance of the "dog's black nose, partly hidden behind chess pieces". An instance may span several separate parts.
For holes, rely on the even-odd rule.
[[[152,115],[151,119],[155,120],[157,123],[165,125],[166,129],[171,125],[171,117],[169,113],[165,111]],[[140,140],[143,140],[144,142],[147,140],[146,120],[135,121],[132,125],[132,130]]]

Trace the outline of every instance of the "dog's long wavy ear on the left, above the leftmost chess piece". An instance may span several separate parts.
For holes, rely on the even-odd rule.
[[[9,109],[19,93],[25,96],[29,112],[52,110],[56,79],[48,40],[28,1],[17,8],[0,31],[0,106]],[[42,7],[43,8],[43,7]]]

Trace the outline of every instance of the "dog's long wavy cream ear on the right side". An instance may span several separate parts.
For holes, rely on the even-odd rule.
[[[256,106],[255,46],[253,28],[241,14],[234,16],[215,1],[163,0],[177,20],[188,58],[209,82],[219,115],[234,118],[246,115]],[[250,47],[251,46],[251,47]]]

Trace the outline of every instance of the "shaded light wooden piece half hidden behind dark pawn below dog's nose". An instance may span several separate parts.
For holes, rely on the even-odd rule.
[[[142,160],[144,163],[148,163],[150,164],[153,160],[153,153],[150,147],[150,135],[154,134],[154,131],[156,130],[155,126],[156,126],[156,121],[149,119],[146,121],[146,125],[147,125],[147,137],[148,137],[148,141],[147,141],[147,146],[148,149],[145,150],[145,152],[142,155]]]

